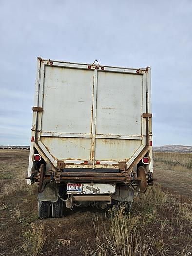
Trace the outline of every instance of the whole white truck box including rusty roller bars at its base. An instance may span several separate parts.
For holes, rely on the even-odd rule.
[[[152,184],[151,117],[149,67],[38,58],[28,182]]]

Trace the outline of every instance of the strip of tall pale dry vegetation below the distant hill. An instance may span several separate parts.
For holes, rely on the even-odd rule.
[[[153,152],[153,160],[192,168],[192,153]]]

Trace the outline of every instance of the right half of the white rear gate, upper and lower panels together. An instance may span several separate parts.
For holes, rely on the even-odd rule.
[[[97,83],[95,159],[129,161],[143,143],[143,77],[99,71]]]

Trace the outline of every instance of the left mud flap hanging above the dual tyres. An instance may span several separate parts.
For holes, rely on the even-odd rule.
[[[45,190],[42,193],[38,193],[38,201],[57,202],[58,193],[56,186],[53,184],[47,184]]]

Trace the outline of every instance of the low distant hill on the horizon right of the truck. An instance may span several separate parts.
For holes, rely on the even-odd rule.
[[[192,153],[192,146],[164,145],[164,146],[160,146],[160,147],[153,147],[153,151],[159,151],[159,152],[186,152],[186,153]]]

